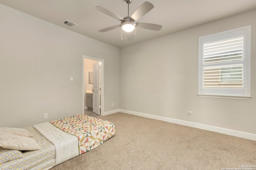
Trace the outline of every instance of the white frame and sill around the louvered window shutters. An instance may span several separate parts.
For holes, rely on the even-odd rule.
[[[228,37],[236,37],[238,35],[244,36],[244,56],[243,56],[243,88],[204,88],[204,43],[214,42]],[[226,62],[227,65],[237,64],[239,62]],[[220,65],[225,65],[225,62]],[[206,64],[205,64],[206,65]],[[214,65],[214,64],[213,64]],[[218,65],[218,64],[217,64]],[[219,65],[218,65],[219,66]],[[230,29],[219,33],[214,33],[202,37],[198,37],[198,96],[210,98],[232,98],[245,99],[251,98],[251,25]]]

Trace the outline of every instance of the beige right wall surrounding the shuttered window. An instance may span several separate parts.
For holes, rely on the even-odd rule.
[[[256,134],[255,16],[256,10],[122,48],[120,109]],[[198,97],[198,37],[246,25],[252,25],[252,98]]]

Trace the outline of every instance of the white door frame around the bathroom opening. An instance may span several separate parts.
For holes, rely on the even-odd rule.
[[[82,114],[84,114],[84,97],[85,97],[85,91],[84,91],[84,59],[91,59],[101,62],[101,84],[100,84],[100,115],[104,115],[104,60],[98,59],[95,57],[90,57],[83,55],[82,56]]]

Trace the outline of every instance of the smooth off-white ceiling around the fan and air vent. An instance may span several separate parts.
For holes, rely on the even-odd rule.
[[[256,9],[256,0],[147,1],[154,8],[138,22],[162,25],[162,29],[152,31],[138,27],[133,41],[127,40],[125,32],[121,40],[121,27],[104,33],[98,31],[118,25],[120,21],[99,12],[95,7],[102,6],[123,18],[128,15],[126,0],[0,0],[0,3],[119,48]],[[130,16],[144,2],[132,0]],[[63,25],[64,20],[78,26],[71,28]]]

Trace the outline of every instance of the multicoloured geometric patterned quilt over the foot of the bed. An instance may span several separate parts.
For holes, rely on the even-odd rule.
[[[115,135],[115,126],[112,122],[88,115],[74,115],[50,121],[50,123],[62,131],[78,137],[79,154],[98,147]]]

